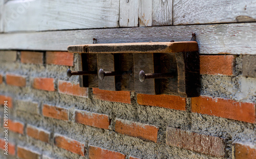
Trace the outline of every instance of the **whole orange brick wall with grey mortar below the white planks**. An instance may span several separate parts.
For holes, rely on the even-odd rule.
[[[256,158],[256,79],[242,77],[242,56],[201,55],[197,98],[81,88],[67,52],[0,60],[9,158]]]

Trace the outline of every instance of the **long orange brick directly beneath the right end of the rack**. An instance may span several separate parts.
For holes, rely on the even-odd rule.
[[[137,102],[141,105],[159,106],[169,109],[186,110],[186,98],[170,95],[137,95]]]

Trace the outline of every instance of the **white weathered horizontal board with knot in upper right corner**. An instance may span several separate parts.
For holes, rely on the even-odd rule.
[[[174,25],[256,21],[256,1],[173,0]]]

